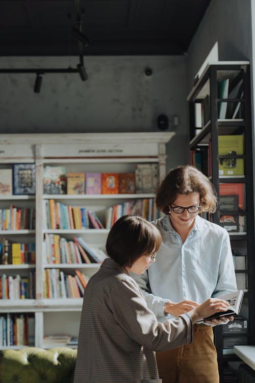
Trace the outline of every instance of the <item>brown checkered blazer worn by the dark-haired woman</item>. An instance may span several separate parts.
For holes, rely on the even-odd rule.
[[[85,289],[74,383],[160,383],[154,351],[191,341],[187,315],[158,323],[136,281],[107,258]]]

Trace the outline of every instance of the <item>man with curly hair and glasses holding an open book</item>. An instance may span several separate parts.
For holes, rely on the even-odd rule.
[[[199,217],[214,212],[217,196],[209,179],[194,166],[170,170],[156,193],[165,216],[153,222],[162,245],[156,262],[141,276],[132,276],[158,320],[187,313],[210,297],[237,290],[230,237],[221,226]],[[228,319],[233,320],[233,317]],[[196,323],[193,342],[158,352],[163,383],[217,383],[217,352],[213,325],[227,318]]]

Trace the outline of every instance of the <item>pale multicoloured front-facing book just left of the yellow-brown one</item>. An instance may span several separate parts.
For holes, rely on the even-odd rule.
[[[66,194],[65,166],[44,166],[43,193]]]

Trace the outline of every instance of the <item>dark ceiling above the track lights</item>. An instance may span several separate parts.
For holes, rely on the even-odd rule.
[[[211,0],[0,0],[1,56],[182,55]]]

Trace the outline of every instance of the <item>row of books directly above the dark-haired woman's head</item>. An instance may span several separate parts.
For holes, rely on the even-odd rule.
[[[135,214],[146,218],[147,221],[154,221],[159,218],[159,210],[155,204],[155,198],[139,198],[110,206],[107,209],[106,228],[111,229],[112,225],[126,214]]]

